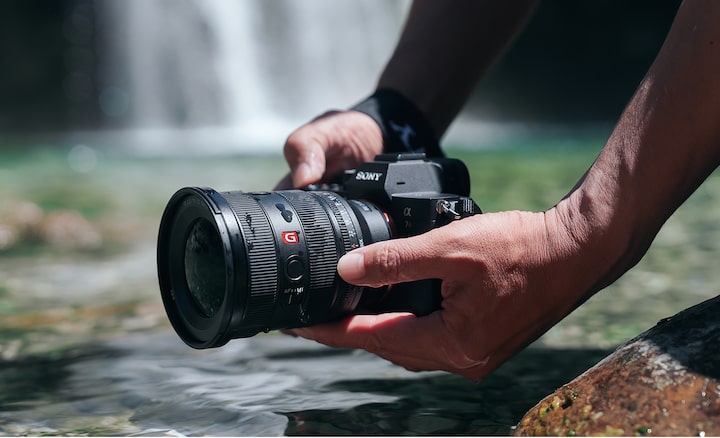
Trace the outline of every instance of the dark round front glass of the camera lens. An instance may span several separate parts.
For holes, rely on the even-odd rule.
[[[212,318],[225,297],[225,257],[220,233],[198,219],[185,242],[185,279],[197,310]]]

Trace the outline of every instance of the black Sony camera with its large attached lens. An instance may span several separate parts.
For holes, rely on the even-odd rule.
[[[440,308],[440,280],[353,286],[341,256],[480,213],[457,159],[382,154],[303,190],[178,190],[160,223],[157,267],[177,334],[210,348],[350,314]]]

